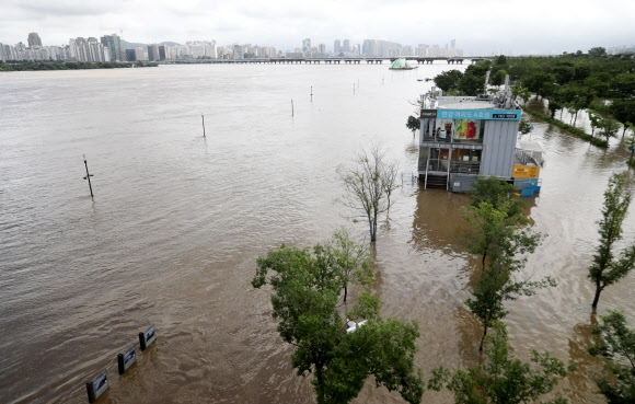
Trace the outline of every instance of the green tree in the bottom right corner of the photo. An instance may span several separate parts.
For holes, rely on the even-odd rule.
[[[623,312],[609,310],[593,326],[593,346],[589,353],[607,358],[609,377],[596,379],[609,404],[635,403],[635,330],[627,327]]]

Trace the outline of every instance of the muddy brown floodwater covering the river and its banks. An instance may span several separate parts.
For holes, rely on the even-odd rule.
[[[342,226],[363,238],[366,227],[336,201],[335,170],[374,139],[409,176],[417,150],[406,118],[431,85],[425,79],[448,68],[1,74],[0,402],[85,403],[84,381],[104,368],[103,403],[313,402],[276,332],[268,290],[250,285],[255,259],[281,243],[325,241]],[[523,276],[551,275],[558,286],[508,304],[510,344],[520,358],[535,348],[576,362],[558,391],[602,403],[585,354],[593,296],[586,274],[602,193],[628,152],[621,139],[602,150],[533,125],[546,165],[528,203],[546,236]],[[480,326],[462,304],[474,265],[461,240],[466,203],[406,183],[378,235],[382,313],[418,321],[426,378],[439,365],[478,361]],[[607,288],[599,311],[623,309],[635,326],[634,289],[632,274]],[[119,377],[116,355],[152,323],[157,343]],[[427,392],[424,401],[451,397]],[[402,401],[369,382],[356,402]]]

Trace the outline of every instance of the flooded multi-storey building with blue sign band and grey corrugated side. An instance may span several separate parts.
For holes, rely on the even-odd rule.
[[[539,168],[521,161],[523,151],[517,150],[522,109],[509,91],[442,96],[432,90],[422,99],[418,177],[424,188],[462,193],[478,175],[507,180],[519,189],[538,185]]]

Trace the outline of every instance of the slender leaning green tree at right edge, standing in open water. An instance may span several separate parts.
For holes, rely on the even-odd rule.
[[[600,245],[596,249],[593,264],[589,268],[589,280],[596,285],[593,310],[600,293],[607,286],[617,282],[635,266],[635,243],[622,251],[616,259],[613,254],[615,242],[622,240],[622,224],[631,205],[632,193],[625,187],[623,174],[613,174],[604,192],[604,207],[599,226]]]

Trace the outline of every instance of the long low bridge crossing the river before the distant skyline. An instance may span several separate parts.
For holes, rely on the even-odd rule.
[[[165,65],[187,65],[187,64],[223,64],[223,65],[245,65],[245,64],[270,64],[270,65],[381,65],[384,61],[392,64],[397,58],[382,58],[382,57],[359,57],[359,58],[250,58],[250,59],[194,59],[194,60],[166,60],[161,61]],[[471,64],[480,60],[492,59],[489,56],[453,56],[453,57],[404,57],[408,61],[416,61],[417,65],[431,65],[437,60],[447,61],[448,65],[462,65],[467,60]]]

